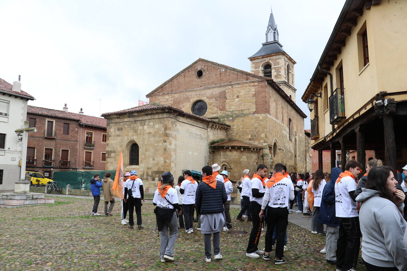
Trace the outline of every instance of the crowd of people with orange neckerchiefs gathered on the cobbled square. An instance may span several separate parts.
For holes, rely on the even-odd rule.
[[[403,173],[397,172],[395,176],[393,169],[383,166],[381,160],[369,158],[366,173],[360,176],[362,165],[356,160],[349,160],[343,172],[334,167],[330,173],[318,169],[312,174],[289,173],[281,163],[274,165],[272,170],[260,164],[253,174],[245,169],[237,182],[229,180],[228,171],[220,169],[214,164],[204,166],[201,172],[186,170],[178,177],[176,185],[169,171],[162,173],[153,198],[162,262],[174,260],[179,230],[192,233],[193,222],[197,222],[196,229],[204,234],[206,262],[212,260],[212,246],[214,259],[223,258],[219,233],[232,228],[230,202],[234,183],[241,195],[241,210],[236,220],[247,218],[252,222],[247,257],[270,260],[270,252],[275,250],[274,263],[284,264],[288,216],[296,212],[312,216],[312,234],[326,235],[325,247],[320,253],[326,254],[326,261],[335,265],[336,271],[355,270],[360,242],[368,271],[407,270],[407,222],[404,217],[407,165],[403,167]],[[105,216],[112,215],[113,181],[108,173],[103,182],[98,175],[91,180],[92,215],[99,215],[99,188],[102,186]],[[121,223],[129,223],[129,229],[134,227],[133,209],[136,210],[137,228],[143,228],[142,185],[136,170],[125,173]],[[298,206],[298,210],[293,210],[293,206]],[[129,220],[126,219],[127,210]],[[265,247],[259,249],[265,227]]]

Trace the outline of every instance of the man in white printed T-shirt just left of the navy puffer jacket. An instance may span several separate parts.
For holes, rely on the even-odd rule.
[[[194,204],[198,182],[192,178],[192,173],[190,170],[184,172],[184,178],[185,180],[183,180],[181,183],[179,193],[184,195],[184,197],[182,198],[182,211],[184,212],[185,232],[190,234],[194,232]]]

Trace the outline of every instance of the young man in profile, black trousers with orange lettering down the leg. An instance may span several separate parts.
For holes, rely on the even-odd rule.
[[[260,258],[264,251],[258,249],[258,241],[260,239],[261,228],[263,226],[263,219],[258,216],[263,203],[264,187],[263,178],[267,175],[267,166],[260,164],[257,166],[256,173],[254,173],[250,181],[250,209],[252,212],[253,228],[250,232],[249,242],[247,244],[246,256],[250,258]]]

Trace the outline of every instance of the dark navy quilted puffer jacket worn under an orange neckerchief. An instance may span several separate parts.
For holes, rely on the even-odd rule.
[[[215,189],[205,182],[198,184],[195,204],[199,215],[223,212],[223,204],[227,200],[228,195],[226,195],[225,185],[222,182],[217,181]]]

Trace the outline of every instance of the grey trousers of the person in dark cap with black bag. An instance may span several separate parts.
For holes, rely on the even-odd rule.
[[[160,230],[160,257],[162,259],[164,259],[164,255],[173,256],[174,245],[178,235],[178,221],[175,212],[171,222],[169,224],[164,222],[164,227]],[[170,237],[168,237],[168,228],[170,230]]]

